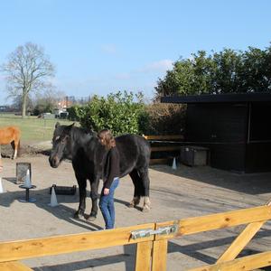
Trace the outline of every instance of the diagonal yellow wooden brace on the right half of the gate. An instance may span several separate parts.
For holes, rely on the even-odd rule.
[[[248,224],[246,229],[238,235],[229,248],[219,257],[217,263],[235,259],[238,254],[248,245],[248,242],[256,235],[257,231],[261,229],[266,221],[254,222]]]

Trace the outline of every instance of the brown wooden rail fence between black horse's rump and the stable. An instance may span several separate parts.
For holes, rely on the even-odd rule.
[[[152,153],[154,152],[179,152],[180,143],[182,143],[183,135],[144,135],[145,139],[151,144]],[[178,145],[177,145],[178,144]],[[164,158],[151,158],[150,164],[168,164],[173,160],[173,155]]]

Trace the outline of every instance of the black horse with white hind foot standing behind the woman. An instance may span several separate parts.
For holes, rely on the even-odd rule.
[[[120,176],[130,174],[135,186],[134,198],[129,207],[139,204],[144,197],[142,210],[150,209],[148,166],[150,146],[144,137],[138,135],[120,135],[116,137],[120,158]],[[74,217],[84,215],[86,209],[87,180],[90,182],[92,208],[88,220],[95,220],[98,211],[98,182],[103,178],[103,168],[107,150],[98,141],[95,132],[83,128],[55,125],[49,162],[51,167],[58,167],[63,159],[72,161],[73,170],[79,184],[79,209]]]

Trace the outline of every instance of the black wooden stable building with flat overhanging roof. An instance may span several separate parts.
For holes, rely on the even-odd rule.
[[[187,104],[185,145],[210,149],[212,167],[237,173],[271,172],[271,94],[164,97]]]

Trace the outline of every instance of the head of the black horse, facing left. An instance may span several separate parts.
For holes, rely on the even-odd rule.
[[[55,125],[52,137],[52,148],[49,157],[51,167],[58,167],[65,158],[70,158],[70,132],[74,124],[70,126]]]

